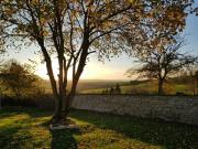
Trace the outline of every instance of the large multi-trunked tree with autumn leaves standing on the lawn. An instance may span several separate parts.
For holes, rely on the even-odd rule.
[[[153,20],[166,22],[160,25],[183,26],[189,3],[190,0],[3,0],[0,18],[6,38],[40,45],[55,97],[53,119],[59,121],[69,111],[89,54],[98,52],[100,58],[118,55],[127,47],[123,31],[130,30],[134,36],[146,34],[146,23],[151,25],[151,18],[158,13],[169,15]],[[179,17],[173,22],[170,14],[176,12]],[[133,43],[141,39],[143,35]],[[54,55],[59,66],[57,82],[52,67]],[[73,83],[67,89],[69,68]]]

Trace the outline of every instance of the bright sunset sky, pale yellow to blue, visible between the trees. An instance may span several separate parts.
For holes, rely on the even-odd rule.
[[[198,2],[196,2],[198,4]],[[198,55],[198,17],[189,15],[187,18],[187,25],[183,32],[186,36],[187,45],[182,51],[189,52],[190,54]],[[9,52],[9,56],[6,58],[15,58],[21,63],[29,63],[29,60],[40,62],[40,57],[34,54],[34,50],[38,47],[31,45],[30,47],[22,47],[21,52]],[[81,79],[129,79],[124,74],[127,70],[134,66],[132,57],[125,54],[114,57],[111,61],[106,60],[105,63],[99,62],[97,54],[92,54],[87,63]],[[53,63],[53,68],[57,73],[57,64]],[[45,64],[37,64],[35,74],[40,75],[44,79],[48,79],[46,75]],[[70,77],[69,77],[70,78]]]

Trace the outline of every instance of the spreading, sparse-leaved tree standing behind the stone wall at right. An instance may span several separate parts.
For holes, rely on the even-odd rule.
[[[163,38],[163,41],[165,39]],[[163,94],[163,85],[168,76],[178,73],[183,67],[193,65],[197,57],[179,50],[184,45],[183,39],[176,39],[172,42],[162,42],[146,52],[135,54],[141,67],[129,70],[130,75],[138,74],[142,78],[156,78],[158,81],[158,94]]]

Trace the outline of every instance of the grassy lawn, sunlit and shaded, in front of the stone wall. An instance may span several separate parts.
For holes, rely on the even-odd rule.
[[[79,130],[48,130],[50,111],[0,110],[0,149],[198,149],[198,128],[129,116],[73,110]]]

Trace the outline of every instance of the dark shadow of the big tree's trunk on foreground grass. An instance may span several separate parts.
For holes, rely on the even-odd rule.
[[[77,149],[77,142],[73,135],[76,130],[52,130],[52,149]]]

